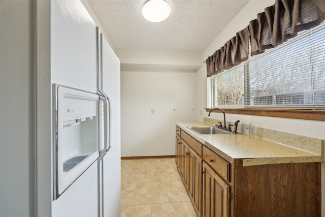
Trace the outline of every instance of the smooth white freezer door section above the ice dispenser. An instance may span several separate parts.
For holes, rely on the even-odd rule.
[[[95,22],[80,1],[51,2],[51,80],[96,92]]]

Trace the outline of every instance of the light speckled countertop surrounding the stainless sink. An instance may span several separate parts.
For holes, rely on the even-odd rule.
[[[186,127],[214,126],[206,122],[176,122],[183,131],[219,154],[226,161],[243,166],[322,162],[322,154],[312,153],[265,139],[245,135],[203,135]],[[323,142],[322,142],[323,143]],[[323,146],[323,144],[320,144]],[[323,149],[321,147],[321,149]],[[323,153],[323,151],[321,152]]]

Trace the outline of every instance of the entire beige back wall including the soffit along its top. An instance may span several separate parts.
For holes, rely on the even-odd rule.
[[[175,122],[193,121],[198,113],[201,52],[116,54],[121,60],[121,156],[174,155]]]

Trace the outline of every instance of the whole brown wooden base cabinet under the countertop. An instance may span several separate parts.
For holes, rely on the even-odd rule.
[[[177,167],[198,216],[321,216],[321,163],[244,167],[220,155],[176,132]]]

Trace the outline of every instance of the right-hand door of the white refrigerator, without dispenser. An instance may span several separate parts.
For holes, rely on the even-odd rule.
[[[112,144],[103,158],[103,209],[105,217],[120,216],[121,186],[121,115],[120,115],[120,61],[108,42],[102,37],[102,89],[111,103]]]

